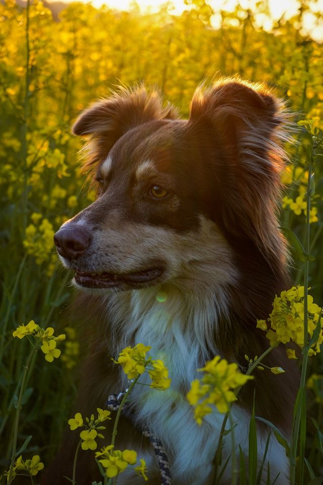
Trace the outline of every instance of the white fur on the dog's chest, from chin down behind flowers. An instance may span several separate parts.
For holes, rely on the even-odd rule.
[[[226,301],[225,288],[221,291],[223,302]],[[214,290],[197,290],[195,296],[188,298],[176,286],[169,285],[116,294],[109,299],[107,313],[111,322],[113,347],[118,349],[115,357],[129,344],[149,345],[150,355],[164,360],[172,378],[171,387],[166,391],[153,390],[140,384],[135,386],[130,398],[135,425],[140,429],[148,427],[168,450],[175,485],[184,482],[207,485],[224,415],[214,409],[199,426],[194,420],[193,408],[186,400],[186,393],[190,382],[201,378],[202,373],[198,369],[206,360],[218,354],[217,349],[209,348],[207,339],[212,340],[208,337],[220,320],[224,323],[226,306],[220,309]],[[149,384],[149,377],[142,375],[140,382]],[[118,385],[120,389],[117,391],[129,386],[121,369]],[[241,407],[234,406],[232,419],[236,424],[235,440],[247,454],[250,415]],[[230,427],[229,424],[227,427]],[[261,449],[265,440],[260,435],[259,439]],[[225,440],[223,453],[224,459],[231,454],[229,438]],[[287,462],[284,455],[279,458],[280,453],[280,445],[273,440],[269,454],[275,455],[275,463],[280,470],[286,470]],[[153,454],[144,458],[148,469],[157,466]],[[221,482],[230,480],[230,474],[229,466]],[[125,475],[124,479],[129,478]]]

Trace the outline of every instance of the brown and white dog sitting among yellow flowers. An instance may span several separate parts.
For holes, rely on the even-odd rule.
[[[75,412],[89,416],[107,396],[127,387],[111,361],[137,343],[169,368],[168,391],[136,386],[131,419],[123,419],[117,449],[135,449],[148,465],[150,484],[160,483],[157,461],[141,435],[149,427],[167,449],[174,485],[213,483],[212,459],[223,415],[201,426],[186,401],[197,369],[215,355],[237,362],[267,347],[255,328],[275,294],[289,286],[287,249],[278,229],[280,174],[286,139],[284,105],[263,85],[223,79],[199,87],[188,120],[157,93],[122,89],[96,102],[73,131],[89,135],[87,168],[97,199],[55,235],[61,260],[75,271],[78,306],[91,325]],[[288,436],[297,372],[284,349],[265,363],[283,375],[255,372],[233,407],[235,440],[248,455],[248,425],[255,390],[256,414]],[[109,430],[108,430],[109,431]],[[267,430],[258,430],[261,462]],[[69,431],[44,483],[71,476],[78,441]],[[230,434],[225,455],[231,453]],[[94,479],[89,452],[79,459],[77,484]],[[267,454],[277,485],[288,483],[288,459],[272,438]],[[118,483],[141,483],[124,472]],[[230,466],[221,483],[230,483]],[[266,473],[261,483],[266,483]]]

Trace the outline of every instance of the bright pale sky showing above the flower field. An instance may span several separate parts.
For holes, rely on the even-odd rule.
[[[63,1],[70,2],[71,0]],[[81,1],[89,3],[89,0]],[[258,0],[208,0],[209,5],[211,5],[214,12],[220,11],[221,9],[233,11],[238,2],[242,8],[251,8],[252,10],[255,10],[255,4]],[[106,5],[107,7],[118,10],[129,10],[131,0],[92,0],[91,3],[97,8]],[[143,13],[147,11],[155,12],[161,4],[166,3],[166,0],[136,0],[136,3]],[[183,0],[172,0],[172,4],[174,5],[172,14],[175,15],[181,15],[181,13],[188,8]],[[298,0],[268,0],[268,4],[273,19],[281,18],[284,13],[286,18],[291,18],[297,14],[298,8],[300,7],[300,2]],[[311,12],[306,12],[303,15],[304,32],[308,33],[314,40],[323,42],[323,0],[313,0],[310,2],[310,6]],[[317,19],[315,14],[320,14],[320,18]],[[214,28],[219,28],[221,16],[216,14],[213,17],[212,24]],[[259,24],[266,30],[271,30],[272,22],[270,19],[264,18],[264,16],[259,16]]]

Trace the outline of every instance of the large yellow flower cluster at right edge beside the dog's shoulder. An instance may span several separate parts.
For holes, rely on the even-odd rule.
[[[291,289],[283,291],[280,297],[276,296],[273,307],[268,318],[271,328],[268,329],[265,320],[257,320],[257,328],[266,331],[266,337],[271,345],[294,342],[302,348],[304,346],[304,286],[293,286]],[[310,337],[313,335],[320,312],[321,308],[313,303],[313,297],[308,295],[307,322]],[[316,355],[320,351],[319,346],[322,342],[321,329],[317,341],[311,345],[308,355]],[[289,359],[295,359],[295,351],[287,349],[287,356]]]

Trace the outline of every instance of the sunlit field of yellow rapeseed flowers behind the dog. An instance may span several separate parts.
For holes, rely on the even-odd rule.
[[[265,2],[258,5],[266,13]],[[77,328],[67,326],[71,275],[60,270],[52,236],[94,198],[80,176],[81,142],[71,135],[71,124],[80,110],[116,85],[144,80],[158,86],[184,117],[204,78],[238,74],[277,88],[296,113],[295,125],[301,120],[288,147],[281,224],[292,247],[294,283],[303,284],[308,266],[310,293],[322,305],[323,47],[302,36],[307,9],[302,2],[296,17],[280,19],[268,32],[255,22],[254,13],[241,7],[221,12],[221,28],[214,30],[213,11],[203,0],[181,16],[172,15],[167,5],[157,14],[142,15],[135,5],[130,12],[118,12],[73,3],[59,20],[39,0],[26,8],[14,0],[0,4],[1,484],[7,481],[4,470],[15,439],[17,450],[27,439],[24,460],[34,461],[24,462],[24,469],[37,472],[42,466],[35,456],[49,463],[70,418],[83,349]],[[309,163],[314,173],[310,193]],[[310,256],[302,249],[308,200]],[[47,333],[42,353],[32,354],[25,374],[30,342],[22,333],[40,332],[32,324],[28,331],[22,328],[31,320]],[[53,337],[52,329],[61,335]],[[323,475],[322,353],[310,357],[306,382],[310,417],[301,446],[308,466],[299,466],[297,483],[314,485]]]

